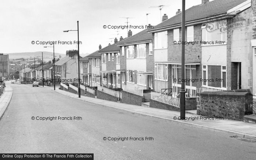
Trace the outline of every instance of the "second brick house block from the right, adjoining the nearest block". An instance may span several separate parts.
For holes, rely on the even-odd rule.
[[[121,75],[123,84],[141,89],[153,88],[152,34],[147,30],[117,43],[121,50],[121,69],[124,71]]]

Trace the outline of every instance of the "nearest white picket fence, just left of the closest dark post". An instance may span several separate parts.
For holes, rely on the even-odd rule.
[[[158,102],[170,104],[172,106],[180,107],[180,99],[172,96],[151,92],[151,99],[156,100]]]

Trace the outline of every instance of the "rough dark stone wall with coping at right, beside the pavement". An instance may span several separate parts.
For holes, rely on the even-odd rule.
[[[252,114],[252,103],[249,92],[202,92],[197,95],[197,114],[243,121]]]

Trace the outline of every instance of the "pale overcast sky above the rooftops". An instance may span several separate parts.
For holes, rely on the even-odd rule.
[[[201,3],[187,0],[185,8]],[[77,30],[79,21],[79,52],[90,54],[99,45],[113,44],[114,38],[127,37],[127,29],[108,28],[126,25],[127,19],[121,17],[130,17],[128,25],[144,28],[161,23],[159,8],[149,8],[159,5],[166,5],[162,16],[167,14],[171,18],[182,9],[182,0],[1,0],[0,53],[53,52],[52,47],[44,47],[52,45],[36,44],[49,41],[57,41],[56,53],[77,50],[74,41],[78,41],[78,32],[63,31]],[[134,35],[143,29],[131,30]],[[58,44],[59,41],[66,44]]]

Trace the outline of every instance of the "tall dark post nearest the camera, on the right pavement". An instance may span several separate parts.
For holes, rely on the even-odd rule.
[[[185,0],[182,0],[182,23],[181,23],[181,41],[185,42]],[[185,79],[185,44],[181,45],[181,79]],[[180,91],[180,117],[185,119],[185,82],[181,83]]]

